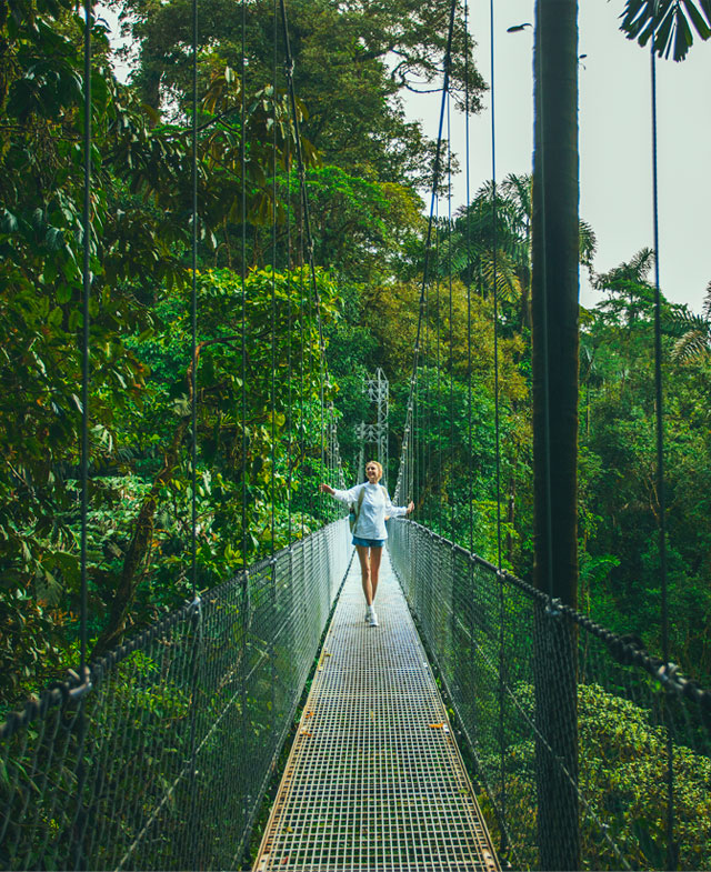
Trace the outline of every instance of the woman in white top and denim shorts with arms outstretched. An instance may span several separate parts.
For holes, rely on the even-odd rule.
[[[360,571],[365,594],[365,623],[378,627],[378,615],[373,608],[378,590],[378,573],[380,572],[380,558],[382,547],[388,539],[385,518],[409,514],[414,509],[410,502],[408,508],[397,507],[390,502],[388,491],[378,482],[382,478],[382,467],[377,460],[369,460],[365,464],[367,482],[357,484],[348,491],[339,491],[330,484],[321,484],[323,493],[330,493],[341,502],[356,508],[356,524],[353,525],[353,544],[360,560]]]

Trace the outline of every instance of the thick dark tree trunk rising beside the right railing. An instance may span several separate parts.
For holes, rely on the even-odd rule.
[[[532,219],[534,581],[577,604],[578,2],[537,0]],[[580,869],[575,639],[535,627],[540,868]]]

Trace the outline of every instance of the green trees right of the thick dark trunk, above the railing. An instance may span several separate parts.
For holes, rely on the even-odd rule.
[[[605,297],[588,313],[581,342],[579,519],[581,601],[600,622],[659,651],[652,265],[652,252],[643,249],[597,278]],[[707,683],[711,431],[704,398],[711,373],[704,358],[690,365],[674,353],[683,322],[684,310],[662,297],[672,659]]]

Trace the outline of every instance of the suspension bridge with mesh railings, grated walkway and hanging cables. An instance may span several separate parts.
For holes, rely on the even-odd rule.
[[[242,3],[242,12],[244,7]],[[273,547],[277,489],[291,491],[291,451],[298,442],[290,431],[286,438],[289,472],[279,484],[274,445],[280,372],[288,372],[283,415],[288,427],[293,425],[294,431],[300,428],[302,440],[309,427],[319,433],[318,450],[310,458],[317,472],[307,479],[308,483],[313,484],[318,474],[339,485],[344,483],[310,234],[299,131],[302,112],[293,86],[283,0],[280,19],[274,8],[274,28],[280,20],[286,93],[294,132],[300,249],[306,258],[298,281],[289,280],[287,297],[292,284],[298,284],[298,298],[292,305],[288,297],[283,322],[284,330],[290,330],[298,313],[312,308],[316,328],[304,339],[301,325],[300,347],[292,347],[290,339],[286,350],[277,350],[281,315],[272,269],[266,280],[271,289],[268,313],[260,314],[261,333],[254,340],[256,344],[269,344],[262,361],[269,370],[267,375],[248,370],[251,340],[246,329],[249,301],[244,279],[240,332],[207,340],[198,333],[199,44],[198,7],[193,3],[189,410],[173,438],[177,451],[190,433],[191,593],[182,608],[133,634],[127,632],[126,615],[119,614],[112,631],[100,639],[94,656],[89,655],[87,538],[94,230],[91,130],[86,126],[83,377],[78,400],[82,411],[81,651],[77,668],[66,680],[33,696],[0,726],[3,869],[494,872],[675,869],[681,864],[702,868],[703,858],[685,851],[685,846],[694,828],[708,830],[710,825],[703,809],[711,783],[711,694],[687,679],[668,651],[650,653],[638,639],[599,625],[575,608],[574,597],[567,595],[571,572],[563,552],[570,545],[571,530],[574,547],[575,529],[574,523],[565,530],[557,527],[553,509],[560,504],[570,509],[565,500],[572,492],[574,514],[574,479],[571,491],[565,469],[562,475],[558,471],[558,465],[564,468],[570,459],[570,444],[563,443],[564,427],[555,418],[551,395],[568,390],[557,381],[560,368],[555,355],[567,343],[572,342],[577,349],[577,333],[570,335],[562,318],[549,322],[548,310],[560,303],[555,289],[565,285],[559,279],[570,265],[561,264],[550,252],[558,249],[561,238],[568,238],[564,230],[562,237],[555,235],[561,213],[560,188],[554,181],[558,169],[571,177],[571,156],[561,158],[558,146],[547,137],[545,123],[552,124],[550,133],[555,129],[557,120],[551,120],[554,112],[574,114],[571,106],[575,106],[575,91],[567,79],[560,91],[545,91],[543,100],[541,82],[549,58],[564,56],[573,67],[578,58],[569,46],[557,44],[560,32],[551,27],[550,18],[557,14],[557,7],[552,7],[552,13],[550,8],[538,21],[543,60],[537,62],[542,118],[537,133],[537,178],[544,184],[537,190],[540,199],[534,212],[533,252],[535,273],[542,275],[539,280],[548,290],[542,293],[542,302],[540,294],[534,301],[534,327],[540,331],[543,324],[538,348],[544,349],[534,361],[534,399],[543,419],[537,437],[537,489],[543,509],[537,518],[535,584],[502,568],[500,500],[495,563],[473,553],[471,517],[460,519],[460,527],[453,512],[445,520],[432,513],[419,520],[392,519],[377,628],[363,621],[348,521],[334,508],[321,513],[323,523],[318,529],[308,529],[304,514],[292,518],[289,503],[288,545],[278,550]],[[432,303],[428,270],[431,272],[441,176],[447,163],[451,169],[451,153],[444,154],[442,142],[457,11],[453,2],[395,503],[421,495],[422,470],[433,462],[418,434],[433,425],[428,418],[428,392],[432,378],[439,392],[444,369],[439,360],[439,333],[437,367],[428,358],[431,337],[427,334],[427,313]],[[92,14],[88,3],[87,118],[91,116]],[[465,102],[469,104],[469,93]],[[246,129],[243,89],[240,110],[241,127]],[[276,116],[273,120],[276,131]],[[239,152],[246,179],[244,136]],[[274,166],[276,152],[274,139]],[[291,183],[291,169],[289,173]],[[495,172],[493,176],[495,193]],[[573,173],[571,178],[574,189],[577,177]],[[451,176],[448,184],[451,188]],[[243,182],[242,224],[247,223],[246,198]],[[493,209],[495,322],[495,197]],[[276,207],[272,217],[276,240]],[[562,223],[570,229],[570,216],[563,218]],[[577,233],[577,213],[573,218]],[[577,270],[578,252],[573,254]],[[276,255],[273,260],[276,265]],[[439,308],[439,280],[437,294]],[[451,324],[451,285],[449,300]],[[577,301],[572,308],[577,312]],[[494,362],[499,360],[497,341],[494,330]],[[198,511],[198,378],[201,355],[211,343],[233,343],[239,351],[242,393],[236,442],[240,443],[242,462],[237,477],[241,488],[242,561],[223,583],[200,590],[198,530],[204,520]],[[298,374],[292,369],[294,361],[300,365]],[[317,388],[304,402],[303,383],[312,375]],[[257,522],[256,514],[248,515],[248,441],[259,443],[257,428],[248,433],[246,423],[244,385],[249,378],[264,378],[267,384],[269,414],[259,422],[262,435],[271,428],[272,452],[271,481],[266,489],[272,508],[261,530],[264,534],[267,528],[266,541],[271,542],[271,550],[251,562],[246,559],[247,540],[257,532]],[[299,381],[301,392],[294,399],[292,385]],[[470,378],[470,445],[471,391]],[[377,423],[361,422],[359,438],[361,444],[377,447],[388,471],[389,394],[381,369],[367,381],[367,393],[378,404]],[[494,393],[498,397],[498,381]],[[307,408],[309,402],[312,408]],[[658,409],[661,415],[661,402]],[[263,410],[259,411],[261,414]],[[560,420],[567,414],[563,403]],[[499,415],[497,405],[497,479]],[[572,442],[574,449],[574,439]],[[303,450],[303,444],[300,448]],[[360,445],[359,452],[362,465]],[[167,455],[166,479],[176,462]],[[152,512],[156,507],[151,500],[157,499],[151,491],[143,505]],[[250,499],[257,502],[253,494]],[[662,504],[662,551],[663,514]],[[151,518],[146,515],[149,532]],[[448,525],[450,538],[442,534]],[[137,524],[137,548],[143,532]],[[684,782],[684,791],[678,780],[682,773],[693,775],[689,781],[693,786]]]

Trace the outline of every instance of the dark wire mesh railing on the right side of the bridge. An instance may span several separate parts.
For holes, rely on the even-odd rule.
[[[417,523],[389,547],[515,869],[711,868],[711,694]]]

